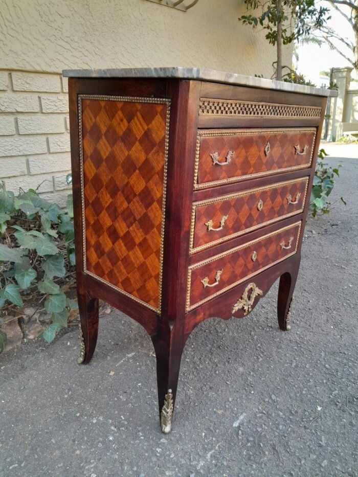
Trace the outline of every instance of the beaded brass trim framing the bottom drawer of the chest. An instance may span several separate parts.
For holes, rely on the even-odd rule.
[[[247,242],[247,243],[244,243],[243,245],[239,245],[237,247],[234,247],[234,248],[231,248],[230,250],[228,250],[227,252],[223,252],[222,254],[219,254],[219,255],[215,255],[214,257],[210,257],[206,260],[203,260],[202,262],[198,262],[198,263],[194,263],[193,265],[190,265],[188,267],[188,276],[187,276],[187,296],[186,296],[186,312],[188,311],[191,311],[193,310],[194,308],[197,308],[198,306],[200,305],[203,305],[204,303],[207,303],[208,301],[212,300],[213,298],[216,298],[218,297],[219,295],[221,295],[222,293],[225,293],[225,291],[228,291],[228,290],[231,290],[231,288],[234,288],[236,285],[239,285],[240,283],[242,282],[245,282],[246,280],[249,280],[250,278],[252,277],[255,277],[256,275],[260,274],[262,271],[264,270],[267,270],[267,268],[271,268],[273,267],[274,265],[277,265],[278,263],[282,262],[283,260],[286,260],[287,258],[289,257],[292,257],[293,255],[296,254],[297,252],[297,248],[298,248],[298,242],[299,242],[299,238],[300,238],[300,232],[301,232],[301,225],[302,225],[302,221],[299,221],[299,222],[295,222],[291,225],[287,225],[286,227],[283,227],[282,229],[278,229],[276,230],[275,232],[272,232],[271,234],[266,234],[266,235],[263,235],[262,237],[259,237],[258,239],[256,240],[252,240],[251,242]],[[254,273],[246,276],[246,277],[243,277],[242,279],[238,280],[237,282],[235,283],[232,283],[231,285],[228,285],[227,287],[225,288],[222,288],[222,290],[219,290],[217,291],[216,293],[213,293],[212,295],[210,295],[210,297],[207,297],[205,298],[204,300],[200,300],[199,302],[197,303],[194,303],[193,305],[190,305],[190,288],[191,288],[191,271],[196,269],[196,268],[200,268],[204,265],[207,265],[208,263],[212,263],[214,262],[215,260],[218,260],[222,257],[226,257],[227,255],[230,255],[234,252],[237,252],[238,250],[241,250],[243,248],[246,248],[250,245],[253,245],[255,243],[258,243],[260,242],[261,240],[267,238],[267,237],[273,237],[283,231],[286,231],[286,230],[289,230],[289,229],[293,229],[295,227],[298,226],[298,232],[297,232],[297,240],[296,240],[296,246],[295,246],[295,249],[293,252],[291,252],[290,254],[288,255],[285,255],[284,257],[278,259],[278,260],[275,260],[275,262],[272,262],[270,263],[269,265],[266,265],[265,267],[263,268],[260,268],[259,270],[255,271]]]

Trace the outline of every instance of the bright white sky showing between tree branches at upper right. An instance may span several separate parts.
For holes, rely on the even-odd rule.
[[[328,2],[317,2],[317,5],[329,7]],[[349,7],[342,6],[342,10],[349,15]],[[332,27],[340,36],[348,37],[353,41],[353,30],[347,20],[333,8],[331,8],[330,15],[332,18],[327,22],[327,25]],[[338,45],[339,43],[336,42],[336,44]],[[330,50],[326,43],[322,46],[314,43],[299,45],[297,52],[299,56],[298,62],[295,60],[297,71],[303,73],[307,79],[310,79],[317,86],[320,86],[322,83],[320,79],[321,71],[328,71],[331,67],[350,66],[346,59],[338,52]]]

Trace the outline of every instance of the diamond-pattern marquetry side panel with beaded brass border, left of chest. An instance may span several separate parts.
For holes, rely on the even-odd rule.
[[[109,98],[80,98],[85,271],[159,310],[169,104]]]

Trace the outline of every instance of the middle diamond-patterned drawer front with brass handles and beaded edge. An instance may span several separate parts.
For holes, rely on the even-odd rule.
[[[309,177],[193,203],[190,254],[303,211]]]

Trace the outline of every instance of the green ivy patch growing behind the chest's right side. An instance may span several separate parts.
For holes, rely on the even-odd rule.
[[[314,217],[316,217],[317,213],[328,214],[333,203],[337,202],[338,200],[341,200],[344,205],[346,205],[346,201],[343,197],[340,197],[333,203],[331,203],[328,199],[334,187],[334,180],[340,175],[339,170],[342,165],[339,164],[337,168],[332,168],[328,164],[324,163],[324,158],[327,155],[328,154],[324,149],[319,150],[310,196],[310,207],[312,210],[312,216]]]

